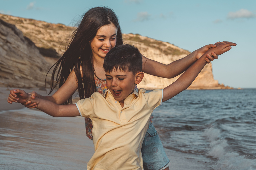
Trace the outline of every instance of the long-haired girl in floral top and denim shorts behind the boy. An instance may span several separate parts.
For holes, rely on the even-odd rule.
[[[218,43],[221,42],[217,42],[216,45]],[[37,96],[57,104],[71,104],[72,95],[77,89],[80,99],[90,97],[95,91],[104,94],[105,89],[107,89],[106,76],[103,69],[104,57],[111,48],[121,44],[123,44],[122,33],[114,11],[106,7],[96,7],[88,10],[84,14],[80,25],[72,34],[66,52],[54,65],[50,93],[57,84],[59,84],[59,89],[52,96],[41,96],[36,92],[32,92],[32,98]],[[216,45],[206,45],[168,65],[143,56],[142,71],[165,78],[176,77],[192,65],[209,48],[214,48]],[[215,53],[213,53],[213,56],[207,56],[207,63],[210,63],[214,58],[218,58]],[[56,81],[54,81],[55,75]],[[15,102],[17,96],[13,90],[10,93],[8,102]],[[28,108],[35,108],[37,106],[36,103],[31,103],[30,101],[24,103],[24,105]],[[89,118],[86,119],[86,135],[93,140],[92,123]],[[142,154],[144,169],[169,169],[170,161],[164,152],[152,121],[150,121],[143,142]]]

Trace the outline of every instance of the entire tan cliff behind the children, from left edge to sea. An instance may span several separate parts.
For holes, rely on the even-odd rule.
[[[44,87],[47,69],[65,51],[67,37],[74,28],[63,24],[0,14],[0,86]],[[10,24],[9,24],[10,23]],[[12,25],[14,24],[14,25]],[[139,48],[147,58],[168,64],[189,54],[167,42],[134,34],[123,34],[125,43]],[[174,82],[145,74],[138,87],[164,88]],[[47,78],[47,83],[50,81]],[[207,64],[189,89],[230,88],[213,79],[212,64]]]

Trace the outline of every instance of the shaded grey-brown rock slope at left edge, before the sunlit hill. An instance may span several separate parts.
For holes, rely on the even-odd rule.
[[[0,20],[0,86],[43,87],[49,67],[30,39]]]

